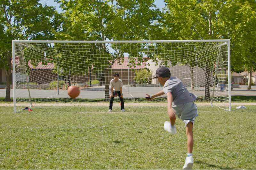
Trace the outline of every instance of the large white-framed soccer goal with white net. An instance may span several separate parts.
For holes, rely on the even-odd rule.
[[[108,106],[115,73],[126,107],[165,106],[165,95],[145,100],[162,90],[152,79],[159,66],[182,80],[196,101],[231,110],[229,40],[12,41],[12,66],[14,112],[53,103]],[[80,89],[75,99],[67,94],[70,85]]]

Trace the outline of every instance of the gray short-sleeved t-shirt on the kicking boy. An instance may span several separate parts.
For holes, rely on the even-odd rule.
[[[172,106],[193,102],[196,96],[188,92],[186,86],[176,77],[170,77],[164,84],[163,91],[172,93]]]

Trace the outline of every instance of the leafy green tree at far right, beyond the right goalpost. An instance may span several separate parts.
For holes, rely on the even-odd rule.
[[[231,65],[236,70],[244,67],[248,71],[248,90],[252,89],[252,71],[256,70],[255,9],[255,0],[228,0],[220,12],[221,34],[231,41]]]

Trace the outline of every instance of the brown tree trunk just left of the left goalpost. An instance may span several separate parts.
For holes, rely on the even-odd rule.
[[[6,74],[6,93],[4,101],[11,101],[11,81],[12,81],[12,69],[11,69],[11,52],[8,51],[5,53],[7,58],[7,68],[5,70]]]

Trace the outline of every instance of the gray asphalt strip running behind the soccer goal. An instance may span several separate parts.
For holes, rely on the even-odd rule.
[[[246,85],[241,85],[239,88],[234,88],[231,91],[231,95],[243,95],[243,96],[256,96],[256,86],[252,86],[252,90],[246,90]],[[80,95],[78,98],[81,99],[103,99],[105,96],[104,86],[99,87],[91,87],[86,88],[84,90],[80,90]],[[145,97],[146,94],[155,94],[156,92],[161,91],[162,87],[123,87],[123,95],[124,98],[142,98]],[[195,88],[195,90],[191,90],[188,88],[189,92],[197,96],[204,96],[205,89],[204,87]],[[212,88],[211,88],[212,91]],[[6,89],[0,89],[0,97],[5,97]],[[216,89],[214,91],[217,96],[228,95],[227,88],[225,90]],[[18,89],[16,90],[17,97],[28,98],[28,90],[26,89]],[[38,89],[30,89],[30,94],[32,98],[68,98],[67,90],[38,90]],[[212,92],[210,93],[212,95]],[[165,95],[164,95],[165,96]],[[13,97],[13,90],[11,89],[11,97]]]

